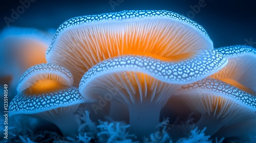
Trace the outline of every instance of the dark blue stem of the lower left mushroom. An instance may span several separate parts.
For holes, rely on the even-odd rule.
[[[78,133],[78,124],[76,123],[74,114],[65,114],[56,117],[53,123],[60,129],[63,136]]]

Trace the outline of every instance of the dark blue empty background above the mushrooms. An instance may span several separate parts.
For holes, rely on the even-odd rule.
[[[24,1],[24,0],[23,0]],[[38,29],[57,28],[65,20],[80,16],[117,12],[122,10],[168,10],[183,14],[202,25],[214,42],[215,47],[245,44],[246,39],[253,41],[256,47],[256,1],[214,1],[205,0],[205,6],[196,14],[191,7],[198,5],[198,1],[129,1],[121,2],[114,9],[110,1],[42,1],[31,3],[24,13],[10,23],[10,26],[35,27]],[[11,17],[11,9],[16,10],[19,1],[2,1],[1,26],[6,26],[4,17]],[[190,11],[190,12],[189,12]],[[187,15],[194,13],[195,15]],[[248,43],[247,43],[248,44]]]

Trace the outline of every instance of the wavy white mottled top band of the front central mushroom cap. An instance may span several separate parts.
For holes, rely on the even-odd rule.
[[[140,71],[164,82],[186,84],[201,80],[227,64],[227,60],[218,52],[198,51],[192,58],[179,62],[161,61],[148,56],[123,55],[104,60],[83,75],[79,91],[94,77],[118,71]]]

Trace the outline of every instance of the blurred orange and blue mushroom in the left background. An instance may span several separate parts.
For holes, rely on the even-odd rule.
[[[2,30],[0,33],[0,79],[10,78],[8,84],[9,89],[13,88],[13,94],[16,94],[15,88],[20,77],[29,67],[46,63],[45,52],[51,43],[52,36],[33,28],[9,27]]]

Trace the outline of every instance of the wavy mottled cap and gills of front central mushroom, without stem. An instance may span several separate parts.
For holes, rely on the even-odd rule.
[[[198,81],[220,70],[226,64],[227,60],[221,54],[210,50],[198,51],[189,59],[173,62],[150,56],[122,55],[104,60],[90,68],[80,81],[79,92],[86,100],[94,102],[97,101],[96,95],[104,95],[110,92],[109,89],[117,88],[117,84],[120,83],[126,93],[120,90],[121,97],[118,94],[115,98],[121,99],[120,101],[124,99],[122,102],[135,103],[138,101],[135,99],[142,102],[144,98],[151,98],[152,102],[157,95],[154,90],[160,89],[159,97],[155,99],[159,100],[157,102],[166,102],[173,91],[165,90],[175,89],[174,84]],[[128,76],[122,77],[122,74]],[[135,88],[138,88],[140,98],[132,97]],[[122,97],[122,94],[129,96]],[[146,94],[153,97],[147,97]],[[165,97],[165,94],[168,96]]]

